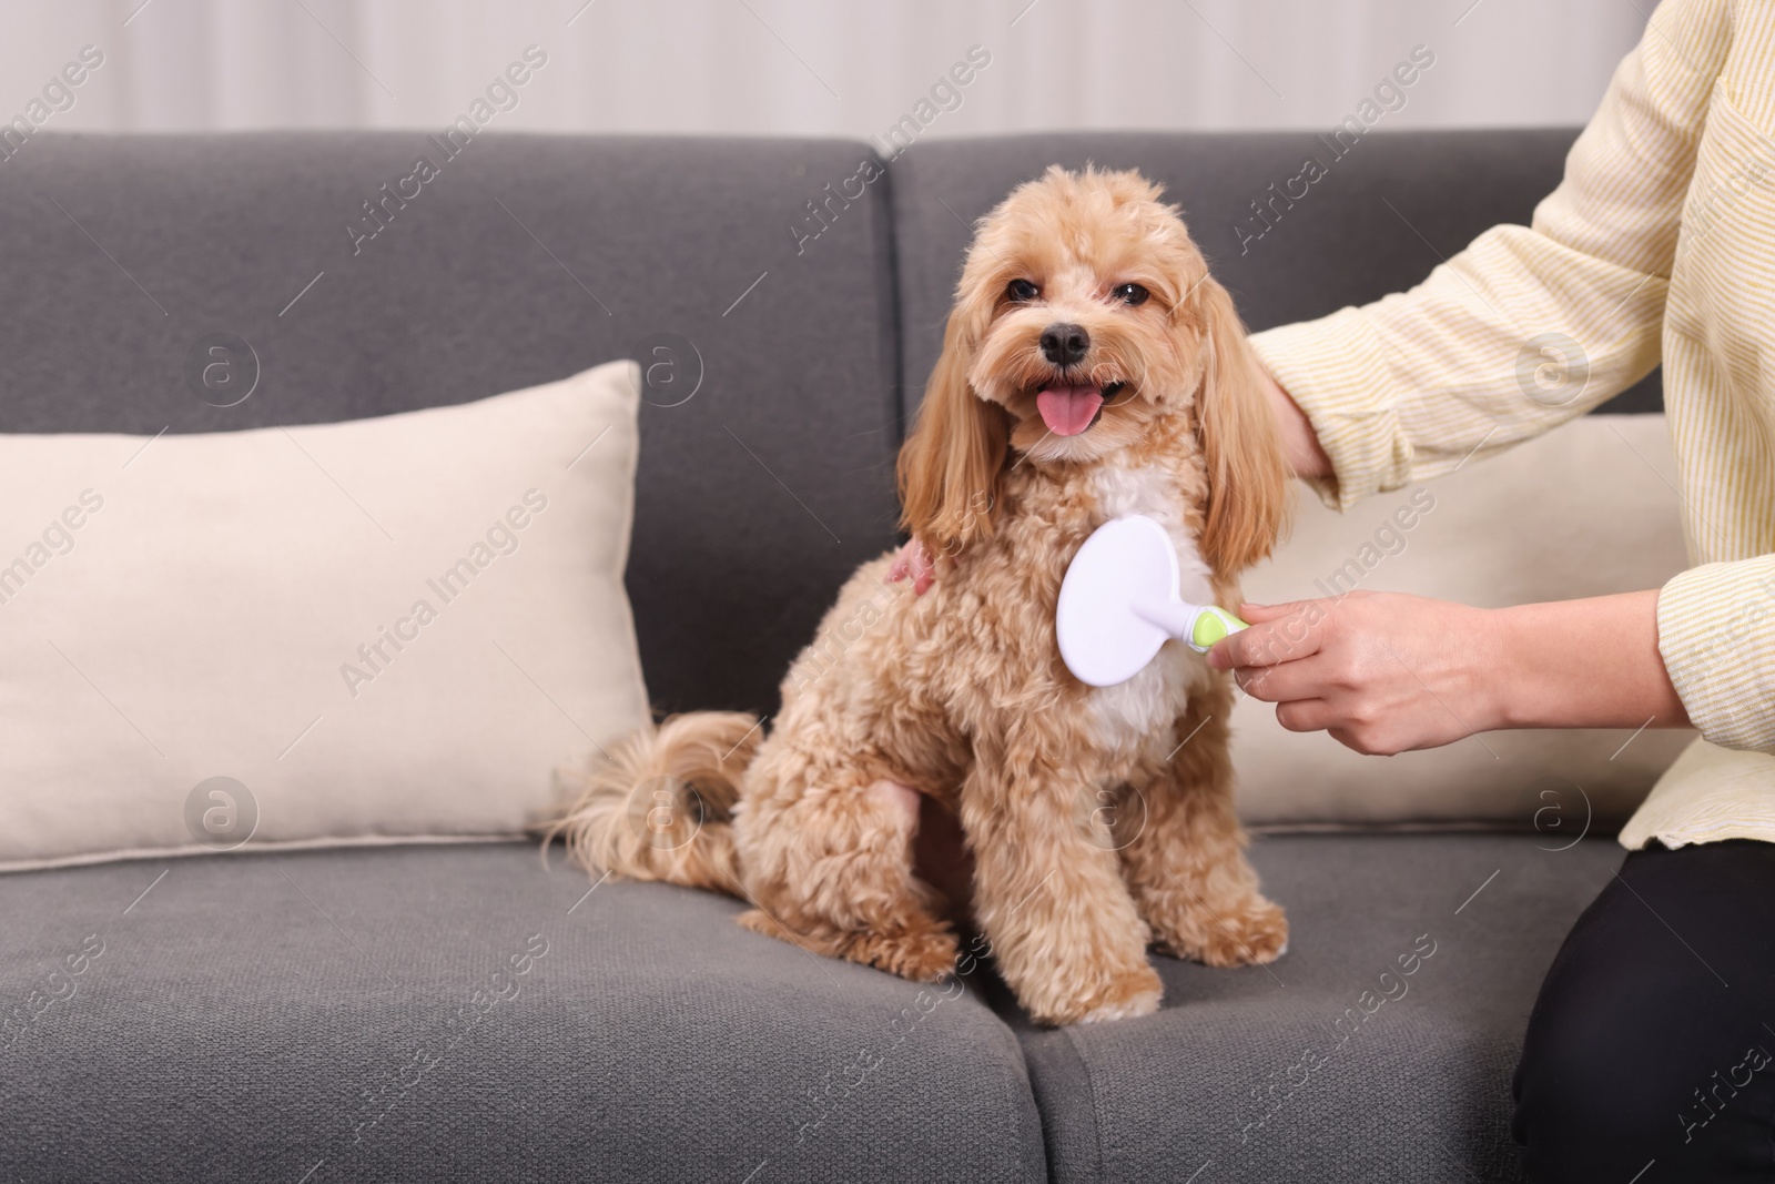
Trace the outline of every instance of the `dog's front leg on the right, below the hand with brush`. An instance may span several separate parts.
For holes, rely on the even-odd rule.
[[[1154,939],[1209,966],[1276,960],[1289,944],[1282,907],[1257,889],[1234,815],[1227,712],[1232,692],[1198,698],[1177,722],[1189,737],[1132,779],[1118,811],[1122,872]]]

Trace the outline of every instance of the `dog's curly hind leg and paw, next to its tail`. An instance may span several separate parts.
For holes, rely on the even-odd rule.
[[[815,953],[934,982],[955,966],[937,893],[912,873],[918,792],[856,769],[772,753],[770,788],[742,801],[735,827],[746,891],[740,925]]]

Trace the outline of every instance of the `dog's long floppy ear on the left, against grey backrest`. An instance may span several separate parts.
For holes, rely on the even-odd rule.
[[[1010,428],[1005,408],[967,385],[978,330],[966,304],[950,312],[918,424],[900,446],[900,527],[934,554],[992,534]]]

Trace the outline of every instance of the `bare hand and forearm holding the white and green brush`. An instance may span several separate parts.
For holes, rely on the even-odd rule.
[[[1658,593],[1473,609],[1400,593],[1241,605],[1209,651],[1289,731],[1393,754],[1496,728],[1688,722],[1658,653]]]

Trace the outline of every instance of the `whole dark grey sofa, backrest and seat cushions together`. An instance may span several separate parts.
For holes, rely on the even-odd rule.
[[[895,447],[967,222],[1014,183],[1141,167],[1264,328],[1526,220],[1571,135],[1369,137],[1242,252],[1235,225],[1310,135],[919,142],[825,204],[818,236],[808,202],[870,147],[483,137],[355,254],[346,224],[419,133],[43,135],[0,165],[0,431],[380,415],[678,334],[701,387],[641,419],[648,685],[660,710],[769,712],[841,579],[895,543]],[[213,332],[259,355],[238,407],[185,383]],[[1654,378],[1610,410],[1658,405]],[[1599,836],[1558,847],[1258,836],[1294,923],[1282,960],[1156,957],[1161,1014],[1061,1031],[985,967],[927,991],[747,934],[728,898],[588,895],[524,843],[9,875],[0,1179],[1514,1179],[1528,1008],[1621,859]],[[25,1005],[92,941],[75,996]],[[532,973],[490,998],[515,950]]]

